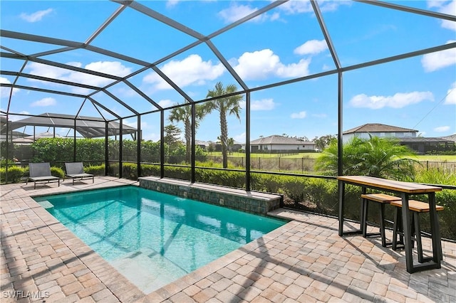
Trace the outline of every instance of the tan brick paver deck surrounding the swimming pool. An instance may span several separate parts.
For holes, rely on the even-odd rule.
[[[285,210],[274,215],[290,223],[144,294],[31,198],[134,183],[1,186],[0,301],[456,302],[456,243],[442,243],[441,269],[410,275],[405,254],[380,239],[342,238],[334,218]]]

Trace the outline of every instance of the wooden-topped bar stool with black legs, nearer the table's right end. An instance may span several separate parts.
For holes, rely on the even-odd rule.
[[[392,201],[391,206],[395,206],[394,213],[394,226],[393,226],[393,250],[398,248],[398,244],[403,244],[403,222],[400,208],[402,208],[402,201]],[[418,262],[423,263],[428,260],[431,260],[432,257],[423,257],[423,245],[421,242],[421,228],[420,228],[420,213],[429,213],[430,208],[429,204],[416,200],[408,201],[408,209],[412,212],[412,237],[413,240],[416,240],[416,246],[418,250]],[[443,211],[443,206],[435,206],[436,211]],[[398,240],[398,235],[400,235],[400,240]],[[413,241],[412,241],[413,247]],[[442,253],[440,253],[442,255]]]

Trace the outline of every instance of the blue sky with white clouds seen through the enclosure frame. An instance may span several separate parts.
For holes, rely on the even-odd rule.
[[[388,1],[400,6],[455,15],[456,1]],[[142,6],[172,18],[188,33],[172,28],[127,7],[90,46],[121,53],[141,62],[154,63],[192,100],[204,100],[217,82],[242,87],[205,43],[195,43],[195,35],[218,33],[232,22],[271,4],[271,1],[138,1]],[[323,21],[342,67],[456,42],[456,22],[385,9],[355,1],[318,1]],[[65,39],[83,43],[113,15],[120,4],[113,1],[0,1],[1,30]],[[33,55],[62,46],[1,37],[1,51]],[[195,46],[177,53],[187,46]],[[251,94],[250,139],[285,134],[314,139],[338,132],[338,76],[272,86],[274,83],[336,69],[317,18],[309,1],[289,1],[222,31],[211,45],[244,81]],[[125,77],[142,65],[90,50],[76,48],[40,58],[87,70]],[[23,60],[0,58],[2,71],[19,71],[59,80],[105,87],[113,80]],[[14,83],[11,75],[0,75],[0,83]],[[161,107],[185,102],[185,97],[168,85],[158,73],[147,69],[132,75],[128,82],[106,90],[138,112],[152,112],[141,118],[142,138],[160,139],[160,114],[150,100]],[[396,60],[343,73],[343,130],[367,123],[381,123],[418,130],[423,137],[445,137],[456,133],[456,48]],[[32,78],[19,78],[16,85],[48,90],[66,90],[88,95],[93,90]],[[271,85],[268,87],[267,85]],[[266,87],[266,88],[265,88]],[[81,97],[68,97],[24,88],[0,87],[0,110],[11,114],[39,115],[44,112],[85,115],[107,119],[114,116]],[[110,94],[96,92],[93,99],[138,127],[127,107]],[[10,100],[11,95],[11,102]],[[239,119],[228,117],[229,137],[246,140],[245,95]],[[11,115],[11,120],[25,116]],[[169,110],[165,111],[165,117]],[[170,124],[167,119],[165,124]],[[182,123],[175,123],[183,130]],[[32,134],[33,129],[18,129]],[[36,132],[47,129],[37,129]],[[57,134],[72,136],[68,129]],[[218,112],[199,122],[197,140],[217,141],[220,135]]]

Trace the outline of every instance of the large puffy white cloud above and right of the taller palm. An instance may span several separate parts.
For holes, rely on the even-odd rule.
[[[243,53],[237,59],[234,70],[244,80],[265,79],[271,76],[279,78],[301,77],[309,75],[310,59],[299,60],[299,63],[284,65],[278,55],[270,49]]]

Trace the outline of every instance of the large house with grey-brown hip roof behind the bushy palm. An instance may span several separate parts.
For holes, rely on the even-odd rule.
[[[343,142],[348,142],[353,137],[369,139],[374,137],[394,137],[401,145],[408,146],[418,154],[439,153],[441,151],[455,151],[455,140],[449,137],[417,137],[418,130],[403,127],[394,127],[385,124],[371,123],[360,127],[348,129],[343,132]]]

